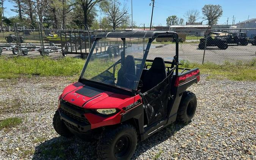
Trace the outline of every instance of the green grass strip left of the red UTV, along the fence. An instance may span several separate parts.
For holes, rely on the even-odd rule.
[[[80,74],[84,63],[85,60],[77,58],[53,60],[49,57],[0,57],[0,78],[18,78],[24,75],[74,76]]]

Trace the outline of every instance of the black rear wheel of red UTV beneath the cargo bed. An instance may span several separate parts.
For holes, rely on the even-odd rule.
[[[183,123],[190,122],[196,113],[196,106],[196,95],[190,91],[184,91],[177,112],[177,121]]]

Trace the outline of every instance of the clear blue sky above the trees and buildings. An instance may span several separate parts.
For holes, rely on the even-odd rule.
[[[131,9],[131,0],[121,0],[126,3],[127,7]],[[133,21],[137,25],[150,24],[152,6],[149,6],[151,0],[133,0]],[[250,18],[256,18],[256,0],[155,0],[153,24],[166,25],[166,18],[171,15],[182,17],[185,19],[184,14],[189,9],[198,9],[200,11],[205,4],[218,4],[223,8],[223,16],[219,19],[218,24],[226,24],[227,18],[229,17],[229,24],[232,23],[232,17],[236,17],[236,22],[247,20]],[[10,9],[13,8],[13,4],[5,1],[4,6],[5,16],[15,16],[17,13],[12,12]],[[131,13],[131,11],[130,11]],[[102,14],[99,14],[101,16]],[[186,20],[185,20],[186,21]],[[199,22],[202,21],[200,18]],[[205,23],[205,22],[203,22]]]

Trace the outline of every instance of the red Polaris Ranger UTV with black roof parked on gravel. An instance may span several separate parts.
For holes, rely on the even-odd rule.
[[[174,58],[166,52],[166,57],[159,57],[160,48],[151,45],[157,37],[174,39],[176,45],[168,50],[176,54]],[[108,41],[119,46],[119,56],[108,55],[104,45]],[[178,47],[173,31],[97,35],[78,82],[59,97],[53,117],[56,132],[83,140],[99,133],[99,158],[123,160],[132,157],[138,141],[175,121],[191,121],[197,100],[186,89],[199,81],[199,70],[179,68]],[[97,56],[98,52],[103,54]]]

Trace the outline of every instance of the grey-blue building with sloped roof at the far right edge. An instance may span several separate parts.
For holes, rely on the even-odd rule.
[[[236,24],[236,28],[256,28],[256,18],[248,19],[243,22]],[[247,37],[253,38],[256,36],[256,29],[248,30],[239,30],[240,32],[246,33]]]

